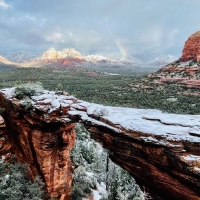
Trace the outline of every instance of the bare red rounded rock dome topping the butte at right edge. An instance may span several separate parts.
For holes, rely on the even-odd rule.
[[[181,62],[189,60],[200,61],[200,31],[192,34],[185,42]]]

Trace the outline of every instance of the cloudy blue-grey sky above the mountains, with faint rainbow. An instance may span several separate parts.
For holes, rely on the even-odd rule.
[[[200,0],[0,0],[0,52],[181,56]]]

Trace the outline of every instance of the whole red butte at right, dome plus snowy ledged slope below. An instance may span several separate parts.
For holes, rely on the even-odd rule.
[[[155,83],[177,82],[186,87],[200,88],[200,31],[186,41],[182,57],[149,75]]]

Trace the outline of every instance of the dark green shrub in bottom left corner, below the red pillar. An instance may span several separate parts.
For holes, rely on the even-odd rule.
[[[42,200],[44,183],[39,177],[32,182],[27,176],[27,165],[0,160],[0,199],[5,200]]]

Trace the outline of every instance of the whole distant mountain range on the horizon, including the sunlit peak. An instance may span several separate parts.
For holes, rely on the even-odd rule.
[[[146,74],[157,71],[162,66],[178,59],[172,55],[134,54],[131,57],[122,57],[113,60],[102,55],[82,55],[74,48],[57,51],[53,47],[47,49],[41,55],[23,51],[1,55],[5,59],[18,63],[18,66],[22,67],[89,67],[111,73],[113,69],[115,73],[141,71]]]

